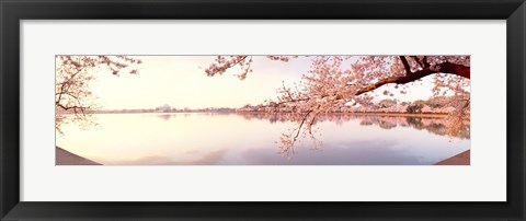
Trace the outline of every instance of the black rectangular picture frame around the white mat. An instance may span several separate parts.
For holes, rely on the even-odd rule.
[[[524,220],[524,0],[0,0],[1,220]],[[505,202],[20,201],[21,20],[506,20]],[[483,193],[481,193],[483,194]]]

